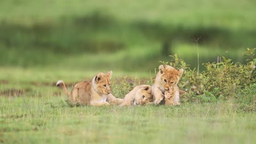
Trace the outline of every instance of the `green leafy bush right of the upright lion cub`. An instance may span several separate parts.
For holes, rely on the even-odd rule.
[[[184,69],[184,76],[179,82],[179,87],[187,91],[181,98],[183,101],[210,102],[234,98],[238,91],[248,89],[256,83],[255,49],[247,49],[245,52],[245,56],[249,57],[247,64],[234,63],[231,59],[222,57],[221,62],[204,63],[206,70],[201,73],[190,69],[177,55],[171,56],[171,62],[161,63]]]

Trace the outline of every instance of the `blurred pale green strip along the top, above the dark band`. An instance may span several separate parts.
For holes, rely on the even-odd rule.
[[[86,16],[90,13],[104,13],[120,21],[147,21],[149,23],[170,22],[191,27],[223,26],[226,28],[255,29],[255,1],[3,1],[1,2],[0,19],[11,22],[21,22],[31,25],[41,21],[55,21],[63,17]],[[9,8],[12,8],[10,11]],[[245,11],[246,9],[246,11]],[[22,13],[20,13],[22,11]],[[204,11],[205,13],[202,13]],[[8,15],[6,15],[8,13]],[[136,13],[136,14],[134,14]],[[245,15],[245,13],[247,13]],[[176,20],[173,22],[173,20]],[[185,22],[186,21],[186,22]]]

